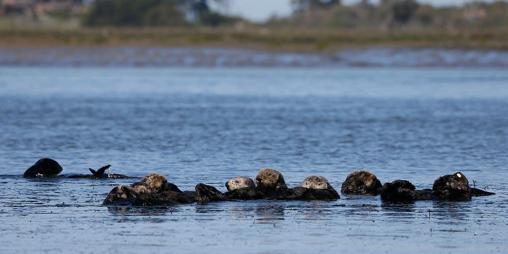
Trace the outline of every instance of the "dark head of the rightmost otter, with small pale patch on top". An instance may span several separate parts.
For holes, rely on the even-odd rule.
[[[437,178],[432,185],[432,192],[439,197],[451,200],[471,199],[469,181],[460,172]]]

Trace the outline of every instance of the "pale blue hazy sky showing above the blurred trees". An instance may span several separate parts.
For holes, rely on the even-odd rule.
[[[342,0],[344,4],[358,3],[360,0]],[[418,0],[436,6],[460,5],[474,0]],[[486,0],[484,2],[493,2]],[[242,16],[253,21],[264,21],[272,15],[287,16],[291,13],[291,0],[229,0],[229,14]],[[377,3],[379,0],[371,0]]]

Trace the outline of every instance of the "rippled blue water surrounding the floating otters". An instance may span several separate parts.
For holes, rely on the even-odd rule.
[[[3,67],[0,91],[0,252],[508,251],[505,69]],[[360,169],[418,188],[461,171],[497,195],[108,208],[137,179],[21,178],[42,157],[183,190],[270,167],[336,189]]]

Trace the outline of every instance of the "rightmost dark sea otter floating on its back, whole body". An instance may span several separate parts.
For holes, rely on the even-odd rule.
[[[385,183],[381,191],[384,201],[417,200],[470,200],[471,196],[489,196],[495,193],[469,187],[469,181],[461,172],[437,178],[432,189],[416,190],[407,180],[395,180]]]

